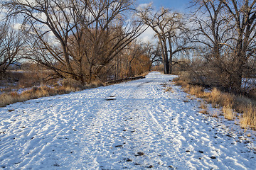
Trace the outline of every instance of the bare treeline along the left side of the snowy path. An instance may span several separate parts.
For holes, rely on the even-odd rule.
[[[0,69],[35,62],[51,72],[45,79],[82,84],[142,74],[150,68],[135,39],[144,24],[129,0],[2,1]]]

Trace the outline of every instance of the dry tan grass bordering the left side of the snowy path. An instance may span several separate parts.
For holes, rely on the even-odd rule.
[[[100,80],[92,81],[90,84],[82,85],[80,81],[75,79],[63,79],[61,81],[54,80],[48,81],[51,87],[44,85],[45,81],[41,77],[46,77],[49,72],[36,72],[34,69],[28,72],[10,72],[11,79],[18,79],[18,84],[9,89],[1,89],[0,94],[0,107],[6,105],[27,101],[29,99],[40,98],[44,96],[54,96],[57,94],[68,94],[71,91],[81,91],[85,89],[92,89],[99,86],[106,86]],[[147,73],[145,73],[147,74]],[[0,81],[1,83],[1,81]],[[6,84],[6,83],[5,83]],[[16,89],[30,88],[18,94]]]

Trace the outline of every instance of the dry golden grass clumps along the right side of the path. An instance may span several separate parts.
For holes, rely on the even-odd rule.
[[[256,101],[245,96],[235,96],[233,94],[223,93],[214,88],[210,92],[205,92],[201,86],[189,85],[184,79],[176,78],[174,82],[178,86],[182,86],[183,91],[188,94],[195,95],[198,98],[204,98],[208,103],[211,103],[213,108],[223,107],[223,113],[228,120],[234,120],[236,113],[242,113],[240,116],[241,128],[252,128],[256,130]],[[200,108],[201,113],[207,114],[203,103]],[[218,117],[218,114],[213,114],[213,117]]]

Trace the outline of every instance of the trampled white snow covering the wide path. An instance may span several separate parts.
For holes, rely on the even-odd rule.
[[[199,113],[174,77],[0,108],[0,169],[256,169],[255,133]]]

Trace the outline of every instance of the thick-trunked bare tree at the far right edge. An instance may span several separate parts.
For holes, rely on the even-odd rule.
[[[231,88],[240,91],[245,64],[250,57],[254,57],[256,50],[256,0],[220,1],[225,5],[225,10],[232,18],[232,24],[235,27],[234,47],[227,45],[233,55],[230,63],[233,69],[230,70],[229,79]]]

